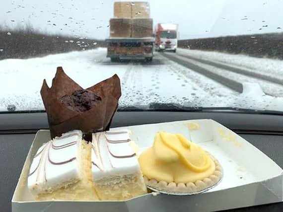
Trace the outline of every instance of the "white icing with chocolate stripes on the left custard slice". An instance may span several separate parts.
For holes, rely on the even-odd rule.
[[[28,188],[34,194],[79,180],[81,131],[75,130],[43,144],[30,166]]]

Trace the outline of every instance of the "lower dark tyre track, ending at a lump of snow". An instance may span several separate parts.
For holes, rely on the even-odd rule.
[[[162,56],[164,56],[165,58],[174,61],[190,70],[196,71],[208,78],[211,78],[212,80],[230,88],[231,90],[234,90],[236,92],[242,93],[243,92],[243,85],[235,80],[229,79],[227,77],[218,75],[216,73],[213,73],[212,71],[209,71],[207,69],[204,69],[200,66],[197,66],[195,64],[192,64],[188,61],[186,61],[186,59],[182,58],[181,56],[178,55],[173,55],[170,53],[165,53],[162,54]]]

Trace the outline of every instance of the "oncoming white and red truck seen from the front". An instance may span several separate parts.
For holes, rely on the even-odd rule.
[[[155,51],[177,51],[178,24],[158,23],[154,30]]]

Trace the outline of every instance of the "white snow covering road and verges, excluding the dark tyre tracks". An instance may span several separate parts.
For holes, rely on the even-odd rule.
[[[261,73],[266,65],[269,67],[266,69],[268,71],[265,72],[272,77],[278,76],[280,67],[283,68],[283,61],[251,59],[247,56],[182,49],[178,49],[178,56],[171,54],[173,57],[183,57],[184,55],[217,61]],[[0,111],[6,110],[8,105],[15,105],[16,110],[43,110],[44,106],[40,96],[42,81],[46,78],[47,83],[51,86],[52,78],[58,66],[62,66],[64,71],[83,88],[92,86],[117,73],[122,83],[120,107],[158,102],[185,104],[186,106],[282,110],[280,109],[283,102],[282,98],[263,96],[260,87],[246,84],[244,92],[241,94],[239,91],[223,85],[219,80],[213,80],[196,70],[188,69],[174,62],[174,60],[168,60],[165,54],[156,53],[152,63],[133,61],[111,63],[105,56],[106,49],[100,48],[42,58],[1,60]],[[237,63],[235,57],[245,57],[246,61],[241,58],[241,61]],[[259,83],[266,93],[283,96],[283,86],[280,84],[238,73],[225,72],[225,70],[188,58],[184,61],[228,77],[237,81],[237,83]],[[249,61],[252,61],[252,63],[249,64]],[[272,69],[273,67],[276,67],[276,69]],[[280,77],[283,78],[282,74]],[[249,91],[248,94],[245,92],[247,90]]]

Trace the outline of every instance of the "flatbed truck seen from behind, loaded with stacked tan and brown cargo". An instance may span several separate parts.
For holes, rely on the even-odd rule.
[[[110,19],[110,36],[105,40],[111,62],[153,58],[153,20],[146,1],[114,2],[114,18]]]

